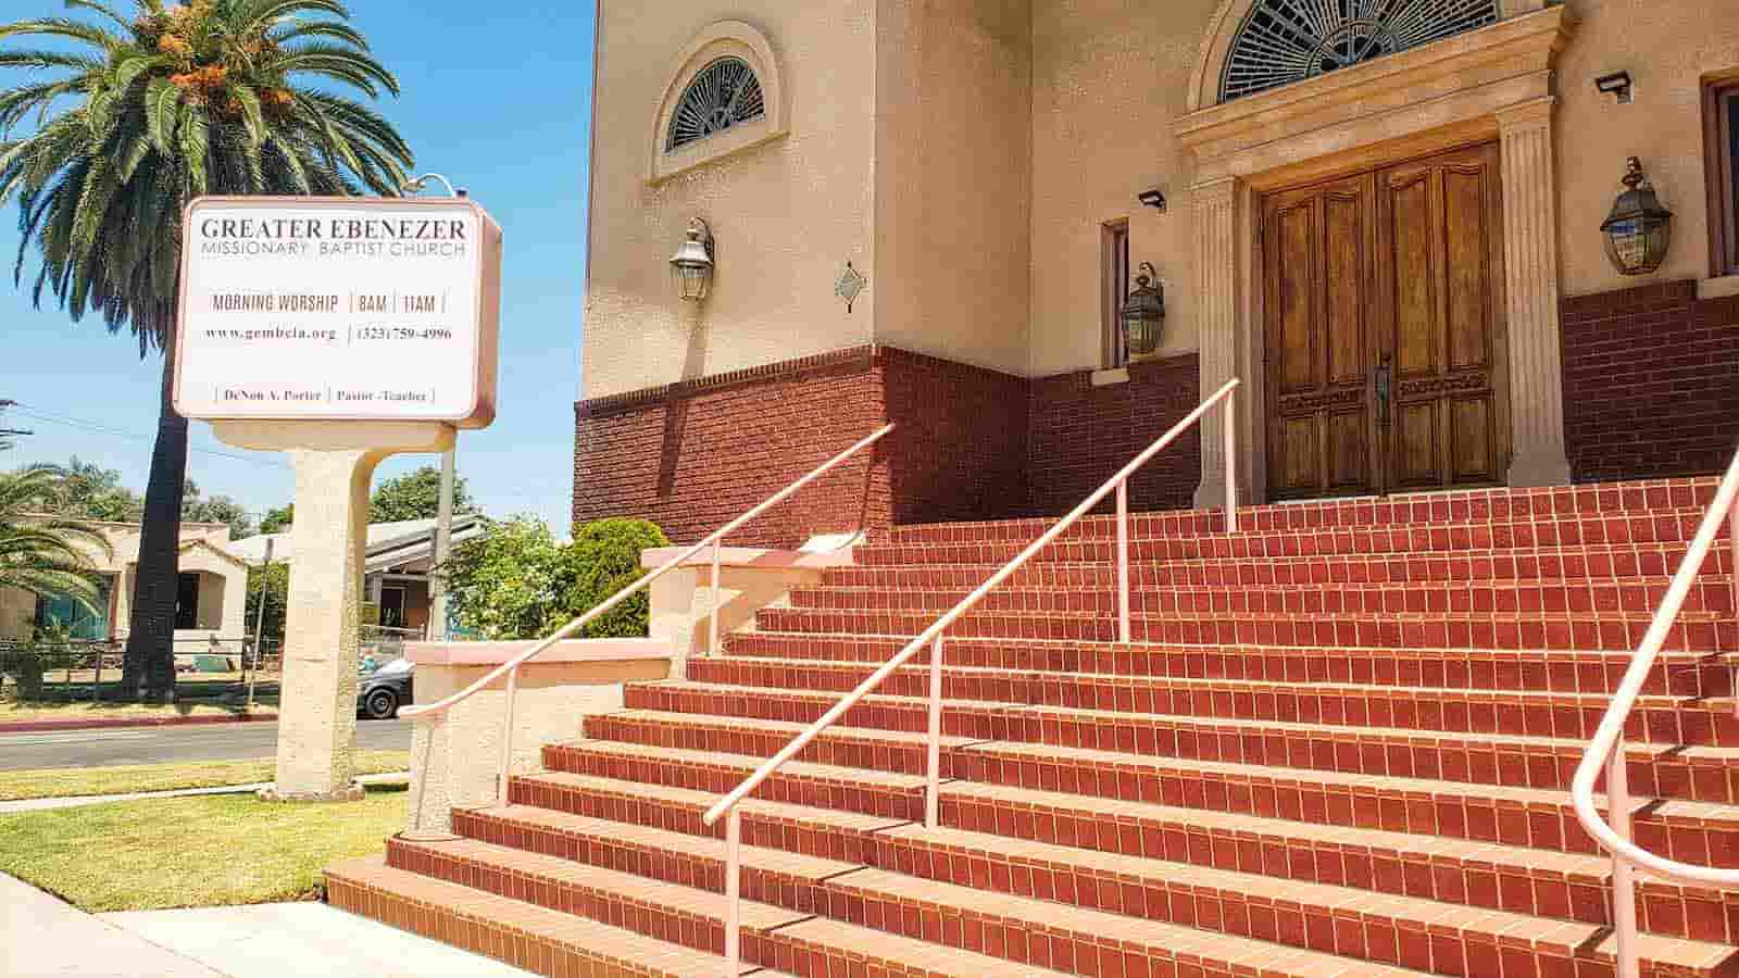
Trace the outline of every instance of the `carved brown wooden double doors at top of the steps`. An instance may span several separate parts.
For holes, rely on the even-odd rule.
[[[1275,499],[1501,484],[1497,144],[1263,198]]]

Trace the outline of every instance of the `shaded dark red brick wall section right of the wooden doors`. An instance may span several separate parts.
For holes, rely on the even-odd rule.
[[[1666,282],[1562,303],[1577,482],[1720,472],[1739,440],[1739,298]]]

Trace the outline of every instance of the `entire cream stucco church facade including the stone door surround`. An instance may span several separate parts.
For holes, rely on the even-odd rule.
[[[1699,85],[1739,68],[1730,0],[1502,0],[1499,23],[1216,104],[1256,0],[856,0],[661,7],[602,0],[583,399],[885,343],[1023,378],[1101,367],[1104,228],[1167,296],[1160,355],[1202,390],[1250,381],[1240,466],[1263,487],[1257,195],[1469,141],[1502,143],[1513,484],[1569,479],[1558,299],[1708,278]],[[647,139],[711,24],[777,63],[783,132],[666,179]],[[1635,101],[1593,78],[1626,70]],[[1629,155],[1676,211],[1650,278],[1600,221]],[[1141,207],[1158,188],[1169,207]],[[718,240],[715,294],[666,259],[689,218]],[[847,313],[845,261],[870,287]],[[1711,285],[1720,291],[1720,284]],[[1203,439],[1202,501],[1217,444]]]

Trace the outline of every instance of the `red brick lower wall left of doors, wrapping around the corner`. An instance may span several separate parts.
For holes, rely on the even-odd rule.
[[[861,346],[576,405],[574,520],[645,517],[675,541],[734,519],[892,421],[873,458],[805,487],[732,543],[1061,513],[1196,404],[1195,357],[1028,381]],[[1132,484],[1137,510],[1189,503],[1200,461],[1179,442]]]

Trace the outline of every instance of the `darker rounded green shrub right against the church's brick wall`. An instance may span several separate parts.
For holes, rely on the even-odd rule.
[[[640,552],[649,546],[670,546],[664,531],[647,520],[609,519],[595,520],[574,533],[574,541],[562,548],[560,607],[565,625],[572,618],[603,604],[605,599],[626,588],[645,574]],[[628,600],[586,625],[588,639],[645,637],[650,602],[647,592],[635,592]]]

